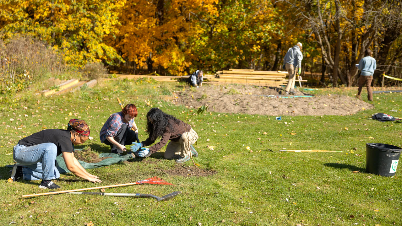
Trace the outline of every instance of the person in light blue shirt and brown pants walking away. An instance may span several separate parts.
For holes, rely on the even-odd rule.
[[[360,78],[359,88],[357,90],[357,98],[361,99],[360,94],[364,85],[367,86],[367,99],[373,101],[373,90],[371,89],[371,82],[373,81],[373,74],[377,68],[377,62],[373,58],[373,51],[367,49],[364,57],[359,62]]]

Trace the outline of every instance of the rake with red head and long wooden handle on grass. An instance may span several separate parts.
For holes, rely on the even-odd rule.
[[[72,190],[66,190],[66,191],[51,191],[51,192],[47,192],[47,193],[23,195],[22,197],[26,198],[26,197],[41,196],[41,195],[55,195],[55,194],[68,193],[68,192],[74,192],[74,191],[86,191],[86,190],[92,190],[92,189],[103,189],[103,188],[108,188],[108,187],[121,187],[121,186],[139,185],[139,184],[173,185],[158,177],[151,177],[146,180],[137,181],[134,183],[107,185],[107,186],[100,186],[100,187],[88,187],[88,188],[72,189]]]

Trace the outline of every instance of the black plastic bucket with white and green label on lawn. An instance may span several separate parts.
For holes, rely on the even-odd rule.
[[[402,148],[390,144],[366,144],[366,171],[381,176],[395,175]]]

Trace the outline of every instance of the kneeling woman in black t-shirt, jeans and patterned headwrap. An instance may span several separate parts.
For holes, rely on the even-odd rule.
[[[19,164],[12,168],[11,179],[42,179],[40,188],[60,188],[51,180],[60,177],[55,161],[63,153],[64,162],[71,173],[94,183],[102,182],[95,175],[86,172],[74,156],[74,144],[84,143],[88,140],[89,133],[84,120],[71,119],[67,130],[45,129],[19,140],[14,146],[13,154],[14,160]]]

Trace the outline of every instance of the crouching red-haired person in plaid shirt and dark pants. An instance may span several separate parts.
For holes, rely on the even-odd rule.
[[[128,104],[122,111],[113,113],[100,129],[100,142],[110,145],[112,153],[122,154],[127,151],[125,146],[138,139],[135,117],[137,117],[137,107],[133,104]]]

